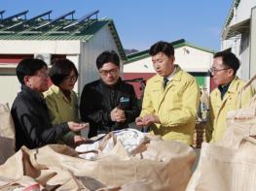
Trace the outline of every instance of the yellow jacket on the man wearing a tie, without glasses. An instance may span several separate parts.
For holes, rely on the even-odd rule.
[[[163,87],[164,78],[156,75],[147,81],[140,116],[154,113],[161,124],[151,130],[164,140],[192,144],[199,107],[200,91],[196,79],[176,66],[176,73]]]

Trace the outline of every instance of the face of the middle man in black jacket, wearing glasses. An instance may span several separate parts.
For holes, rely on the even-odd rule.
[[[112,62],[107,62],[98,70],[100,79],[107,85],[115,85],[119,80],[120,68]]]

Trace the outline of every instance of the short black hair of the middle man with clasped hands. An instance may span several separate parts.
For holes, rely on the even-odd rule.
[[[99,70],[105,63],[112,62],[116,66],[120,67],[120,59],[116,51],[103,51],[97,56],[96,66]]]

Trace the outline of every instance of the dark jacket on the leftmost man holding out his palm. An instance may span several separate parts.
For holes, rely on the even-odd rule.
[[[16,128],[16,150],[23,144],[36,148],[56,140],[69,132],[67,123],[52,125],[43,96],[22,85],[11,110]]]

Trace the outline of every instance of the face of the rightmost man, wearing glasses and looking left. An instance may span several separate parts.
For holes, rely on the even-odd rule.
[[[225,85],[233,80],[234,70],[223,64],[222,57],[216,57],[213,59],[211,75],[215,84]]]

